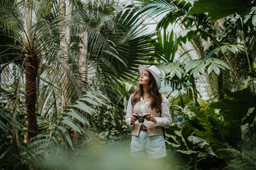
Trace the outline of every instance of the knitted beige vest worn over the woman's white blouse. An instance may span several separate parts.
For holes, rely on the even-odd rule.
[[[162,101],[163,101],[163,94],[162,95]],[[142,113],[140,110],[140,102],[137,102],[134,105],[134,113]],[[154,117],[160,117],[160,112],[156,112],[155,109],[151,109],[151,105],[149,103],[147,110],[145,113],[151,113]],[[162,127],[154,126],[154,123],[151,121],[144,120],[144,123],[140,123],[138,120],[134,122],[134,129],[132,130],[132,135],[139,136],[140,133],[140,127],[144,124],[147,127],[148,130],[148,136],[155,136],[155,135],[163,135]]]

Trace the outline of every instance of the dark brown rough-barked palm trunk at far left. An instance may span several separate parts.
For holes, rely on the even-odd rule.
[[[30,54],[26,56],[26,106],[28,116],[28,127],[32,132],[28,132],[28,137],[31,139],[38,134],[37,116],[36,112],[36,78],[38,75],[38,56],[37,54]]]

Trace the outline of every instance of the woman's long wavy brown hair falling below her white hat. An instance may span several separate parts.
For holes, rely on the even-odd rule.
[[[157,82],[154,79],[153,75],[149,72],[149,81],[148,81],[148,95],[150,99],[151,109],[156,109],[157,112],[161,111],[161,97],[162,95],[158,91]],[[136,104],[140,101],[140,97],[143,96],[143,85],[138,84],[137,90],[134,93],[133,102]]]

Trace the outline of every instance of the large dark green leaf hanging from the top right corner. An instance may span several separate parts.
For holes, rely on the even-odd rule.
[[[252,2],[253,4],[251,4]],[[190,8],[187,16],[208,12],[207,17],[211,17],[212,23],[235,13],[244,16],[251,11],[255,4],[256,2],[251,0],[198,0]]]

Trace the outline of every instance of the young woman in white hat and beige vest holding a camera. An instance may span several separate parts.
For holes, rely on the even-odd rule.
[[[160,70],[156,66],[147,68],[140,65],[139,72],[137,91],[130,96],[125,118],[127,125],[134,127],[131,133],[131,157],[158,159],[162,162],[166,157],[162,127],[172,125],[170,104],[168,99],[159,93]],[[144,123],[138,122],[134,113],[146,113]]]

